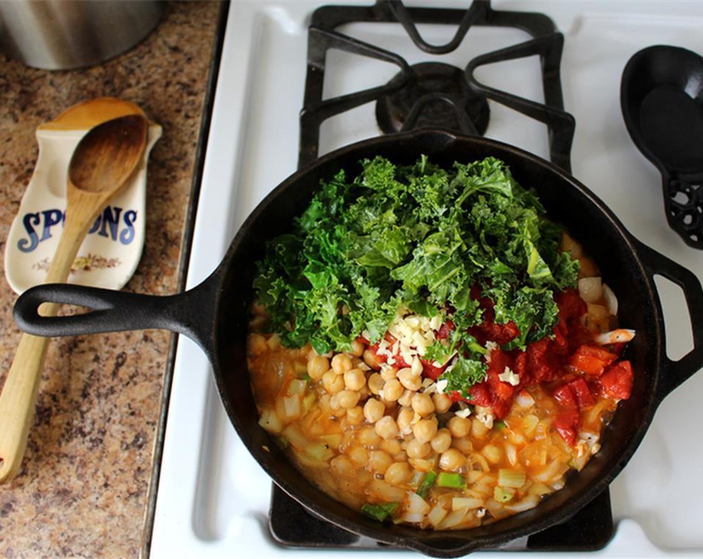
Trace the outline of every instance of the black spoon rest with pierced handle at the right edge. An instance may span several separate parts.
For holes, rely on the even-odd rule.
[[[669,225],[703,249],[703,58],[667,45],[635,53],[620,103],[635,145],[662,173]]]

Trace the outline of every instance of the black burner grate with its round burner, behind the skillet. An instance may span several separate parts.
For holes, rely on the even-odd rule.
[[[454,51],[470,27],[512,27],[532,38],[472,58],[465,68],[428,62],[411,66],[397,53],[337,32],[348,23],[398,23],[413,44],[430,55]],[[427,43],[418,24],[456,25],[453,39],[444,45]],[[474,0],[467,10],[452,8],[406,8],[401,1],[378,0],[372,6],[323,6],[312,15],[308,30],[307,77],[300,114],[300,167],[318,156],[321,124],[330,117],[375,101],[380,129],[384,132],[417,128],[427,122],[479,135],[486,130],[489,108],[486,100],[511,108],[525,117],[546,124],[550,160],[567,172],[574,138],[574,118],[564,110],[560,63],[564,36],[553,21],[541,13],[496,11],[489,0]],[[366,56],[396,65],[398,74],[387,84],[351,94],[323,98],[325,63],[330,49]],[[479,82],[474,72],[482,65],[539,56],[544,103]],[[463,79],[458,77],[463,74]],[[439,89],[449,83],[449,89]],[[439,115],[439,122],[433,117]]]

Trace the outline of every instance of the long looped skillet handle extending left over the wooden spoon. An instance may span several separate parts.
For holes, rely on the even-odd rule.
[[[47,283],[22,293],[13,318],[27,333],[54,337],[162,328],[185,334],[212,356],[215,290],[218,274],[177,295],[141,295],[83,285]],[[41,316],[46,302],[90,309],[72,316]]]

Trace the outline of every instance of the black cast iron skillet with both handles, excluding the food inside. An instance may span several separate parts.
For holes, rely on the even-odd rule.
[[[304,480],[257,424],[246,368],[247,308],[252,301],[254,261],[264,243],[288,230],[309,203],[321,179],[340,168],[359,173],[359,160],[383,155],[411,163],[420,154],[441,165],[492,155],[504,160],[520,184],[534,187],[550,216],[565,224],[602,269],[619,297],[621,324],[637,330],[628,348],[636,371],[630,399],[621,402],[602,437],[602,449],[565,489],[536,508],[491,525],[458,532],[432,532],[384,525],[337,503]],[[666,357],[662,308],[653,276],[683,288],[695,347],[680,361]],[[93,309],[81,316],[42,318],[41,302]],[[15,305],[20,328],[45,336],[78,335],[141,328],[167,328],[200,344],[212,362],[217,387],[238,435],[273,480],[303,506],[326,520],[386,544],[437,557],[458,557],[478,548],[505,544],[563,522],[598,496],[624,467],[650,425],[657,406],[703,365],[703,291],[694,274],[638,242],[588,189],[558,167],[518,148],[448,131],[421,129],[380,136],[325,155],[283,181],[250,214],[226,257],[203,283],[179,295],[154,297],[73,285],[41,285]]]

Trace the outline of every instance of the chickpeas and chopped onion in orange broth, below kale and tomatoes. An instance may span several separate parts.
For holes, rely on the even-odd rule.
[[[614,409],[598,399],[569,446],[550,428],[556,405],[542,387],[494,420],[360,341],[318,355],[251,333],[249,366],[260,425],[311,482],[377,520],[420,528],[476,527],[536,506],[598,450]]]

